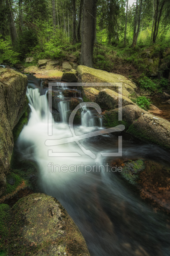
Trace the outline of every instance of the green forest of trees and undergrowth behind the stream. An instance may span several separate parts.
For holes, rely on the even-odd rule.
[[[26,57],[33,57],[34,64],[47,58],[81,64],[84,0],[0,2],[1,64],[33,65],[25,63]],[[160,54],[170,47],[170,1],[136,0],[132,6],[125,0],[95,2],[94,68],[126,76],[127,68],[134,80],[144,76],[139,54],[153,44]],[[167,56],[164,70],[169,63]]]

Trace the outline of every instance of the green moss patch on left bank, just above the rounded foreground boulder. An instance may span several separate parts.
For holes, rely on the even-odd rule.
[[[23,180],[18,174],[10,172],[9,174],[7,174],[6,181],[7,182],[6,182],[6,191],[5,191],[5,193],[6,194],[11,194],[13,191],[16,190],[16,188],[22,183]],[[13,181],[14,185],[10,185],[8,183],[8,181]]]

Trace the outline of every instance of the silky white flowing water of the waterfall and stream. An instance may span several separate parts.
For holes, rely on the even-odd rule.
[[[32,112],[17,141],[20,158],[36,161],[41,192],[61,202],[85,237],[91,256],[170,255],[169,217],[155,212],[116,172],[110,171],[110,163],[117,157],[100,154],[118,151],[118,135],[101,133],[76,142],[76,136],[102,131],[93,126],[90,110],[82,110],[82,123],[74,125],[74,131],[64,119],[54,122],[41,82],[29,78],[32,82],[27,96]],[[65,109],[61,107],[60,111]],[[52,124],[48,124],[48,118]],[[48,135],[51,129],[52,135]],[[169,151],[122,136],[122,157],[169,164]],[[47,140],[55,140],[54,145],[46,146]]]

